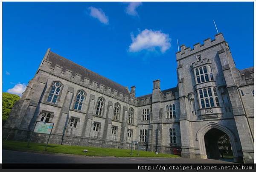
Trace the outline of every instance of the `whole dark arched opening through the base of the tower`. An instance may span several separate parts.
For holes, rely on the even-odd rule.
[[[230,138],[223,131],[216,128],[209,130],[204,135],[204,143],[208,159],[233,161]]]

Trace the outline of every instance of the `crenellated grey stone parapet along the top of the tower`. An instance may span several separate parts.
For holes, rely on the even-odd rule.
[[[176,60],[183,59],[187,56],[195,54],[199,51],[203,51],[204,49],[210,48],[212,46],[218,45],[220,43],[225,42],[225,39],[221,33],[215,35],[215,39],[207,38],[204,40],[204,44],[200,44],[200,42],[196,43],[193,48],[186,47],[186,45],[181,45],[180,50],[176,53]]]

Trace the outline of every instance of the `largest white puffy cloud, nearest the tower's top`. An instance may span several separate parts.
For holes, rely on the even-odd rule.
[[[155,50],[159,47],[162,53],[166,52],[171,47],[171,39],[169,34],[164,34],[161,31],[152,31],[145,29],[140,32],[137,37],[131,34],[132,43],[129,46],[130,52],[138,52],[142,50]]]

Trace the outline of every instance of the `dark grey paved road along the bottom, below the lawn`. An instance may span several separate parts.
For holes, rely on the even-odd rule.
[[[175,164],[175,163],[230,163],[227,161],[212,159],[188,159],[188,158],[115,158],[115,157],[89,157],[83,155],[63,155],[63,154],[41,154],[30,152],[18,152],[3,150],[3,164],[5,163],[60,163],[60,164],[98,164],[98,163],[130,163],[130,164]]]

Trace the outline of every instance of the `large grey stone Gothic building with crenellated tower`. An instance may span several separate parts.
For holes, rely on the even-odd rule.
[[[218,158],[226,133],[234,161],[253,163],[254,69],[239,70],[222,34],[176,53],[177,87],[131,91],[48,49],[3,127],[3,138],[26,141],[36,121],[54,122],[51,143]],[[33,134],[32,140],[46,141]]]

